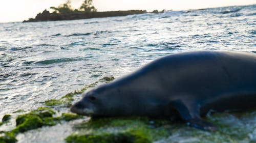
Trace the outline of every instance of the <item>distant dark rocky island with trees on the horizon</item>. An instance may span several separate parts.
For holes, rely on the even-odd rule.
[[[51,7],[50,9],[54,11],[50,13],[48,10],[44,10],[42,13],[38,13],[35,18],[30,18],[29,20],[24,20],[23,22],[75,20],[147,13],[147,11],[145,10],[97,12],[97,9],[94,6],[92,6],[92,0],[85,0],[80,6],[79,10],[72,9],[70,0],[68,0],[64,4],[61,4],[57,8]],[[157,10],[154,10],[152,13],[159,12]]]

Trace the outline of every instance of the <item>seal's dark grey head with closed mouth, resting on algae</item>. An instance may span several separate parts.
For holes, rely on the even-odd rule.
[[[121,101],[120,90],[105,84],[84,94],[71,111],[85,116],[116,116],[125,110]]]

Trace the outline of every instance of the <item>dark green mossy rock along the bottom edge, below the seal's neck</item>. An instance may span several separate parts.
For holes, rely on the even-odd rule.
[[[102,133],[87,135],[70,135],[66,138],[68,143],[150,143],[150,139],[142,132],[123,132],[123,133]]]

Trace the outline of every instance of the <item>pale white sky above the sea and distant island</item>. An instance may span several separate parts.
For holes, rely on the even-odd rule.
[[[1,0],[0,22],[23,21],[51,6],[57,7],[66,0]],[[82,0],[71,0],[78,8]],[[252,5],[256,0],[93,0],[98,11],[115,10],[188,10],[222,6]]]

